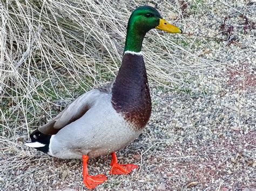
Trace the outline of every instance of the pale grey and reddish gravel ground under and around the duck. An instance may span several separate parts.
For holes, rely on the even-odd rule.
[[[204,11],[194,16],[202,25],[205,18],[211,20],[208,26],[217,33],[228,16],[225,31],[233,25],[235,30],[219,37],[229,35],[230,42],[191,43],[189,51],[215,61],[214,67],[190,76],[177,90],[151,86],[149,124],[134,143],[117,152],[120,162],[139,168],[130,175],[107,175],[97,189],[256,188],[255,29],[245,31],[246,19],[239,16],[255,4],[230,6],[220,2],[208,8],[206,17]],[[253,18],[248,19],[252,25]],[[85,189],[82,161],[49,157],[25,147],[24,138],[1,141],[0,189]],[[90,174],[108,174],[110,160],[90,160]]]

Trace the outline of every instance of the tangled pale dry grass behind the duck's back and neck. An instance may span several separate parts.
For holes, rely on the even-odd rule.
[[[127,19],[136,6],[110,1],[3,4],[1,91],[3,104],[9,104],[2,111],[9,122],[3,132],[10,128],[12,134],[17,123],[29,131],[38,112],[51,117],[53,101],[113,79],[122,59]],[[179,9],[168,13],[173,13],[173,23],[192,27],[179,18]],[[143,51],[153,84],[177,89],[189,81],[187,74],[211,66],[179,46],[183,39],[156,30],[147,35]]]

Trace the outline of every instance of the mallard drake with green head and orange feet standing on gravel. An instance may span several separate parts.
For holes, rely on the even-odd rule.
[[[133,164],[118,164],[116,151],[142,133],[151,115],[151,97],[143,60],[142,42],[147,31],[160,29],[181,33],[167,23],[151,6],[132,12],[119,72],[108,86],[79,96],[52,121],[30,135],[27,146],[53,157],[83,160],[83,182],[89,189],[106,179],[104,174],[89,175],[89,158],[111,154],[110,174],[129,174]]]

